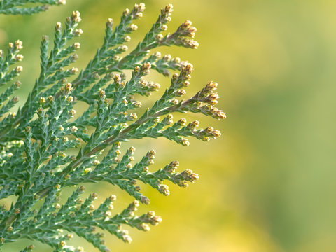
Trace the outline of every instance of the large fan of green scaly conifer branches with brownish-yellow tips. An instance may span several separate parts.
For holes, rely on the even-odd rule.
[[[2,6],[6,6],[5,2],[10,1],[2,1]],[[181,119],[174,123],[174,112],[203,113],[216,119],[225,118],[225,113],[215,106],[217,83],[211,82],[191,98],[182,99],[193,65],[151,52],[164,45],[198,46],[193,40],[196,29],[190,21],[172,34],[162,35],[171,20],[172,8],[172,5],[162,8],[144,40],[128,53],[125,43],[137,29],[132,22],[141,18],[144,3],[126,9],[114,28],[113,20],[109,19],[102,47],[81,71],[71,66],[78,59],[76,50],[80,48],[76,37],[83,33],[78,28],[80,13],[73,12],[64,25],[55,26],[53,43],[43,36],[41,74],[27,102],[16,113],[9,110],[18,102],[13,93],[21,83],[13,79],[22,71],[21,66],[14,66],[23,58],[22,42],[10,43],[7,53],[0,51],[0,85],[8,85],[0,95],[0,199],[16,196],[9,208],[0,209],[0,249],[3,244],[27,238],[48,244],[54,251],[83,251],[66,244],[76,234],[99,251],[109,251],[97,229],[130,242],[125,226],[147,231],[150,225],[162,221],[153,211],[134,214],[140,203],[150,202],[141,193],[139,182],[169,195],[165,181],[186,187],[188,182],[199,179],[190,169],[176,172],[177,161],[153,172],[149,167],[155,151],[148,151],[137,162],[134,147],[125,153],[120,151],[120,144],[131,139],[165,137],[188,146],[188,137],[209,141],[221,135],[213,127],[198,128],[197,121],[187,123]],[[128,79],[125,70],[132,70]],[[144,80],[151,71],[169,77],[170,85],[151,108],[139,109],[138,99],[160,88],[158,83]],[[88,106],[81,115],[74,109],[78,102]],[[141,113],[139,116],[137,111]],[[71,155],[74,151],[76,155]],[[94,209],[97,194],[82,199],[80,195],[85,188],[81,184],[99,181],[125,190],[134,197],[134,202],[121,213],[113,214],[116,195],[111,195]],[[60,194],[69,187],[75,189],[61,204]]]

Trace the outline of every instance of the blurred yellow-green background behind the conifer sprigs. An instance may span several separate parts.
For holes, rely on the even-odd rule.
[[[55,22],[79,10],[84,34],[76,66],[83,67],[104,38],[107,18],[118,22],[130,0],[68,0],[32,17],[0,17],[0,45],[24,41],[22,100],[39,71],[39,44],[52,38]],[[156,20],[160,8],[173,3],[174,31],[184,20],[198,29],[197,50],[162,48],[195,66],[188,94],[210,80],[219,83],[222,137],[209,143],[191,141],[186,148],[164,139],[133,141],[138,155],[155,148],[155,167],[179,160],[200,181],[188,189],[171,186],[164,197],[145,192],[163,222],[151,232],[130,230],[132,244],[107,236],[113,251],[336,251],[336,15],[328,0],[148,0],[130,48]],[[162,87],[169,79],[154,76]],[[163,88],[162,88],[163,90]],[[161,90],[161,92],[162,92]],[[153,102],[153,101],[152,101]],[[332,130],[334,129],[334,130]],[[101,197],[116,193],[116,208],[131,201],[109,185]],[[78,245],[87,245],[75,239]],[[18,251],[27,244],[10,244]],[[18,247],[17,247],[18,245]],[[36,244],[36,251],[50,251]]]

